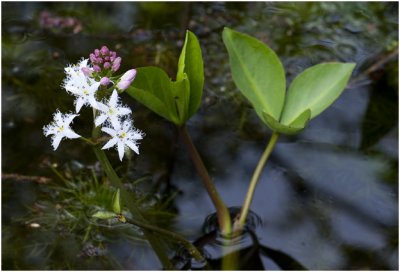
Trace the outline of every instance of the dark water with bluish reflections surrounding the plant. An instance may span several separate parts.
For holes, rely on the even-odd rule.
[[[73,20],[43,25],[43,11]],[[173,76],[185,30],[198,36],[205,89],[188,130],[227,205],[242,204],[271,132],[232,83],[224,26],[268,43],[289,80],[323,61],[357,63],[332,107],[302,133],[279,139],[252,203],[262,223],[250,263],[398,269],[397,3],[3,2],[2,15],[3,269],[162,268],[139,229],[90,221],[93,207],[112,197],[91,149],[63,141],[53,152],[42,134],[56,108],[72,109],[60,87],[63,67],[102,45],[118,51],[122,71],[155,65]],[[206,243],[218,259],[219,238],[202,232],[214,209],[176,129],[123,99],[146,137],[141,155],[122,165],[117,152],[107,153],[118,173],[151,222]],[[89,132],[90,112],[81,115],[74,127]],[[253,236],[242,248],[255,244]],[[180,252],[164,245],[170,257]]]

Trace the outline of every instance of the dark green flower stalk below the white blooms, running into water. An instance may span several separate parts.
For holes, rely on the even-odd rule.
[[[125,190],[124,185],[122,184],[121,180],[119,179],[117,173],[115,173],[114,168],[111,166],[110,161],[108,160],[106,154],[100,147],[93,148],[94,153],[96,154],[97,159],[100,161],[101,166],[103,167],[104,171],[108,179],[111,181],[112,185],[116,188],[119,188],[121,192],[122,201],[131,211],[132,215],[138,218],[139,220],[145,222],[145,219],[140,212],[140,210],[136,207],[133,200],[130,198],[128,192]],[[159,260],[161,261],[164,269],[174,269],[173,265],[171,264],[168,256],[165,254],[159,240],[154,237],[151,232],[144,230],[144,235],[146,236],[147,240],[149,241],[150,245],[154,249],[155,253],[157,254]]]

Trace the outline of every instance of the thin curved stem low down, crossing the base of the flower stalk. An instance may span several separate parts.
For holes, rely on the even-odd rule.
[[[205,260],[203,255],[201,255],[201,253],[199,252],[199,250],[192,243],[190,243],[188,240],[186,240],[184,237],[180,236],[179,234],[176,234],[176,233],[166,230],[166,229],[159,228],[154,225],[144,223],[144,222],[136,220],[136,219],[128,219],[128,218],[125,218],[125,219],[126,219],[126,222],[129,224],[136,225],[145,230],[157,232],[157,233],[162,234],[165,237],[171,239],[172,241],[175,241],[175,242],[183,245],[189,251],[190,255],[192,255],[193,258],[195,258],[197,261]]]

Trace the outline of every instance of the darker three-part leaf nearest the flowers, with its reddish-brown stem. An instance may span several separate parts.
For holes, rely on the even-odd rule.
[[[185,126],[186,121],[200,106],[203,83],[201,47],[196,36],[187,31],[179,56],[176,81],[172,81],[167,73],[158,67],[142,67],[137,69],[136,80],[127,89],[127,93],[179,128],[196,170],[216,208],[220,231],[228,235],[231,232],[228,208],[218,194]]]

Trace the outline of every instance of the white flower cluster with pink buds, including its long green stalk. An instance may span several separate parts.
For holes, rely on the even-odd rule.
[[[134,128],[132,118],[130,117],[131,110],[118,102],[119,98],[117,95],[118,91],[122,92],[131,84],[136,72],[134,69],[131,69],[122,76],[114,76],[113,73],[120,67],[121,58],[117,57],[115,52],[109,51],[106,46],[103,46],[100,50],[96,49],[90,56],[92,64],[88,63],[88,59],[82,59],[78,64],[66,67],[65,73],[67,76],[62,84],[62,87],[68,93],[76,97],[74,101],[76,113],[83,106],[90,106],[92,108],[93,129],[90,139],[76,134],[69,127],[72,120],[78,114],[62,115],[58,110],[54,116],[54,122],[45,126],[43,131],[45,136],[52,135],[54,150],[57,149],[63,138],[79,138],[92,145],[93,151],[106,175],[113,186],[121,191],[122,199],[130,212],[139,220],[144,221],[139,208],[135,206],[134,202],[128,196],[128,192],[123,187],[121,180],[103,151],[103,149],[116,146],[121,161],[124,154],[129,152],[129,150],[133,150],[139,154],[138,141],[143,138],[144,134]],[[99,66],[101,63],[103,63],[102,67]],[[106,63],[109,63],[109,65]],[[108,85],[111,86],[108,87]],[[109,97],[108,100],[107,97]],[[111,138],[101,137],[101,131],[109,134]],[[99,144],[104,140],[108,141],[100,148]],[[144,230],[144,235],[152,245],[164,267],[171,268],[172,265],[161,249],[160,243],[155,237],[152,237],[151,232]]]

